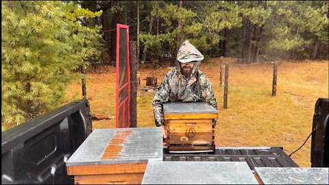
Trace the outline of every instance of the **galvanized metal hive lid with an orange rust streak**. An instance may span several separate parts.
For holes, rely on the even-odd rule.
[[[116,136],[125,136],[125,138],[116,138]],[[117,142],[115,145],[111,145],[113,140]],[[105,156],[108,146],[110,152],[118,148],[119,150],[117,153]],[[149,159],[162,160],[161,127],[97,129],[66,161],[66,166],[146,163]]]

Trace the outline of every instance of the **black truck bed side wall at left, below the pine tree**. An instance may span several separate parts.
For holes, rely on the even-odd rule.
[[[92,132],[87,100],[1,133],[1,184],[73,184],[66,160]]]

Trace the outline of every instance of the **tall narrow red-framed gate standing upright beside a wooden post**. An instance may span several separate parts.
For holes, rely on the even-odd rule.
[[[129,27],[117,24],[116,127],[130,127]]]

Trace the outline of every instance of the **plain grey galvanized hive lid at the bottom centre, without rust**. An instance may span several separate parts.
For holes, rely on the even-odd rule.
[[[147,163],[142,184],[258,184],[246,162]]]

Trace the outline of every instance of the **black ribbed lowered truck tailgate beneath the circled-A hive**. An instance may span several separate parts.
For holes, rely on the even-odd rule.
[[[169,153],[164,147],[164,161],[245,161],[254,167],[298,167],[280,147],[216,147],[215,153]]]

